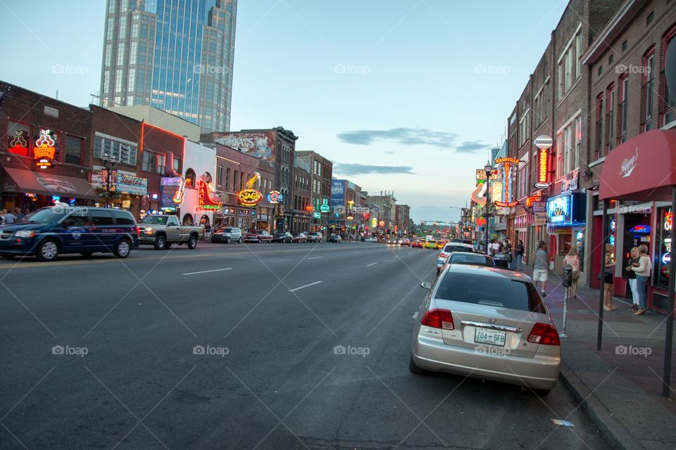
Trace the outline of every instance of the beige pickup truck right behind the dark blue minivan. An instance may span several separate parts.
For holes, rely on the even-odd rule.
[[[181,225],[176,216],[148,215],[139,223],[139,240],[154,245],[156,250],[170,248],[172,244],[187,244],[193,250],[203,233],[201,226]]]

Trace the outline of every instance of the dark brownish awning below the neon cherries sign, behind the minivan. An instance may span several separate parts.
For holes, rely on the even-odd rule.
[[[32,172],[23,169],[4,169],[2,192],[35,193],[60,197],[101,200],[86,179],[54,175],[49,172]]]

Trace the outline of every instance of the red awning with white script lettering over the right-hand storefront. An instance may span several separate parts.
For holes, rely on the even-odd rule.
[[[608,153],[599,198],[671,201],[671,186],[676,186],[676,130],[655,129]]]

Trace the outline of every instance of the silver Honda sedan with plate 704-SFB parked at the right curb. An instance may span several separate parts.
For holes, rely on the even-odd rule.
[[[530,278],[494,267],[453,264],[421,304],[408,368],[526,385],[549,393],[561,341]]]

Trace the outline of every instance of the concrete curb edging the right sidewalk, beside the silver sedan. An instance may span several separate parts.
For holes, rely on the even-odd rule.
[[[603,406],[587,385],[584,385],[582,380],[563,362],[559,376],[565,389],[568,390],[580,410],[594,423],[601,436],[610,444],[611,449],[646,449],[622,427],[615,416]]]

